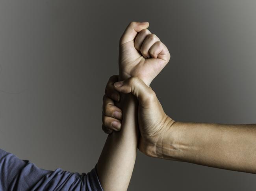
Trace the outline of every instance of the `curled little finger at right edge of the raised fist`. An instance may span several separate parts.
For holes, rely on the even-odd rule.
[[[155,44],[150,47],[148,52],[152,58],[160,58],[166,62],[169,62],[171,57],[165,44],[160,41],[155,42]]]

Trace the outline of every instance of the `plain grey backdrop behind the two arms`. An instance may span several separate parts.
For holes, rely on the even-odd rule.
[[[106,140],[102,96],[118,41],[148,21],[171,53],[152,82],[174,120],[256,122],[256,2],[0,0],[0,147],[79,173]],[[255,190],[256,176],[138,152],[128,190]]]

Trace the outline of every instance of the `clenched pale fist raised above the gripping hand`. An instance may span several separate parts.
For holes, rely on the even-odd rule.
[[[141,78],[148,86],[170,60],[167,47],[147,29],[148,22],[131,22],[119,41],[119,80]]]

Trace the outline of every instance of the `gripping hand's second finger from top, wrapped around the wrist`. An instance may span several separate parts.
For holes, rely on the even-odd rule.
[[[108,96],[104,97],[102,110],[103,115],[122,120],[122,110],[115,106],[113,100]]]

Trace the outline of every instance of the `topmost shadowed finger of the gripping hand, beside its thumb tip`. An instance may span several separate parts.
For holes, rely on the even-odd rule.
[[[105,88],[105,94],[115,100],[116,102],[119,102],[120,100],[120,93],[116,91],[113,87],[113,84],[118,81],[118,75],[111,76],[108,80],[108,83]]]

